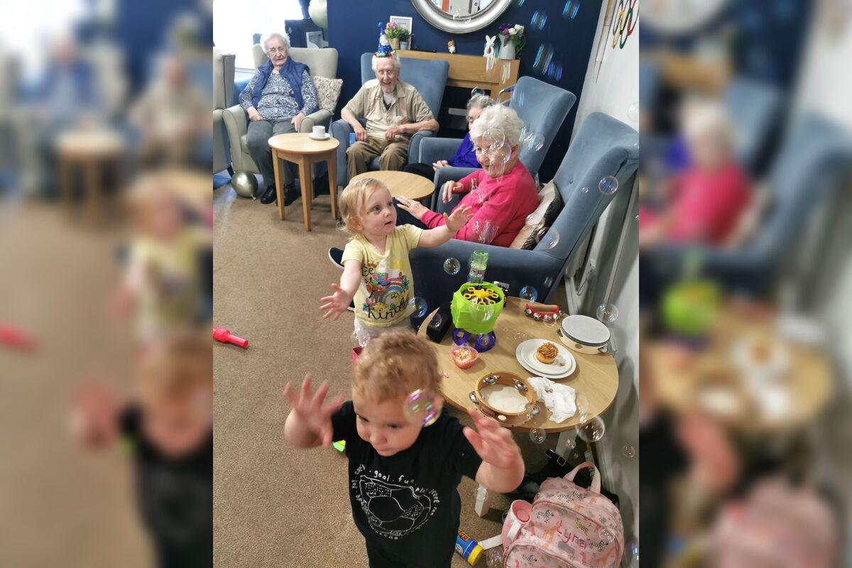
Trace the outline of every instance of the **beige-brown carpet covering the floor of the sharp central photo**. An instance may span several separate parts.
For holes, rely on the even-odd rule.
[[[366,566],[345,456],[296,450],[283,436],[287,382],[311,372],[331,383],[331,394],[348,397],[353,316],[331,322],[319,309],[340,278],[326,251],[343,247],[346,235],[335,229],[327,196],[314,200],[312,232],[304,231],[301,199],[279,221],[274,204],[238,198],[226,185],[216,190],[214,208],[214,324],[250,341],[245,351],[216,345],[213,356],[216,566]],[[523,434],[515,439],[531,469],[556,444],[556,437],[534,447]],[[465,479],[459,491],[463,531],[476,540],[498,534],[506,499],[492,499],[491,513],[480,519],[475,483]],[[456,556],[452,565],[467,564]]]

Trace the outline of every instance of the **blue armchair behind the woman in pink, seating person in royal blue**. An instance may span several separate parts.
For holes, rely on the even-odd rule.
[[[528,130],[542,136],[544,140],[544,145],[538,150],[521,142],[521,163],[527,167],[530,175],[535,177],[562,121],[568,116],[577,97],[570,91],[533,77],[519,78],[514,88],[515,95],[509,100],[509,108],[518,113]],[[521,100],[525,104],[521,105]],[[446,160],[456,153],[460,143],[461,141],[455,138],[422,138],[417,141],[412,139],[412,145],[408,149],[408,162],[433,164],[438,160]],[[458,176],[449,179],[456,180],[474,171],[471,168],[449,169],[452,170],[449,175]],[[435,172],[435,186],[440,187],[438,172]]]

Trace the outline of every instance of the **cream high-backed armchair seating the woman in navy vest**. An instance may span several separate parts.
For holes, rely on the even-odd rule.
[[[260,45],[255,45],[252,48],[252,55],[255,58],[255,67],[262,66],[268,60],[268,57],[263,53]],[[294,61],[304,63],[310,68],[311,77],[328,77],[330,79],[337,78],[337,49],[304,49],[291,48],[287,51],[287,55],[292,57]],[[246,135],[248,134],[248,122],[245,111],[242,106],[234,105],[223,113],[225,118],[225,128],[227,129],[227,138],[231,144],[231,160],[233,168],[245,170],[255,173],[260,173],[255,161],[249,155],[249,146],[246,144]],[[310,132],[315,125],[323,125],[325,129],[329,129],[331,125],[331,112],[324,109],[318,110],[302,120],[302,125],[299,132]]]

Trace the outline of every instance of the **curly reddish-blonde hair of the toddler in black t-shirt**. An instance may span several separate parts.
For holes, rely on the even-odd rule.
[[[352,390],[374,402],[400,399],[418,388],[437,393],[438,359],[412,331],[391,331],[367,343],[355,361]]]

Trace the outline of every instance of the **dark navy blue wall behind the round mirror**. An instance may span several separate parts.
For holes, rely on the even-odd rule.
[[[458,54],[482,55],[485,48],[485,36],[497,34],[498,26],[504,23],[521,24],[525,26],[527,46],[520,54],[521,68],[519,75],[537,77],[547,83],[556,84],[562,89],[571,91],[579,100],[583,88],[586,66],[596,37],[597,19],[601,11],[601,2],[585,0],[580,3],[579,12],[573,20],[562,18],[564,2],[552,0],[527,0],[518,7],[513,2],[509,9],[491,26],[478,32],[464,35],[453,35],[441,32],[423,20],[409,0],[328,0],[328,30],[327,41],[339,53],[337,62],[337,77],[343,79],[342,108],[347,100],[358,91],[360,81],[360,56],[368,51],[376,51],[378,45],[379,22],[387,22],[389,16],[411,16],[412,32],[414,32],[413,49],[425,51],[446,51],[446,43],[454,40]],[[547,21],[542,30],[533,29],[530,20],[533,12],[547,14]],[[542,43],[550,43],[554,49],[554,60],[561,63],[562,77],[544,77],[533,69],[536,50]],[[483,59],[483,66],[485,60]],[[526,104],[530,104],[527,102]],[[567,151],[568,141],[571,140],[574,117],[577,111],[575,104],[562,124],[556,140],[550,146],[547,158],[542,164],[540,179],[549,181],[556,173],[561,159]]]

